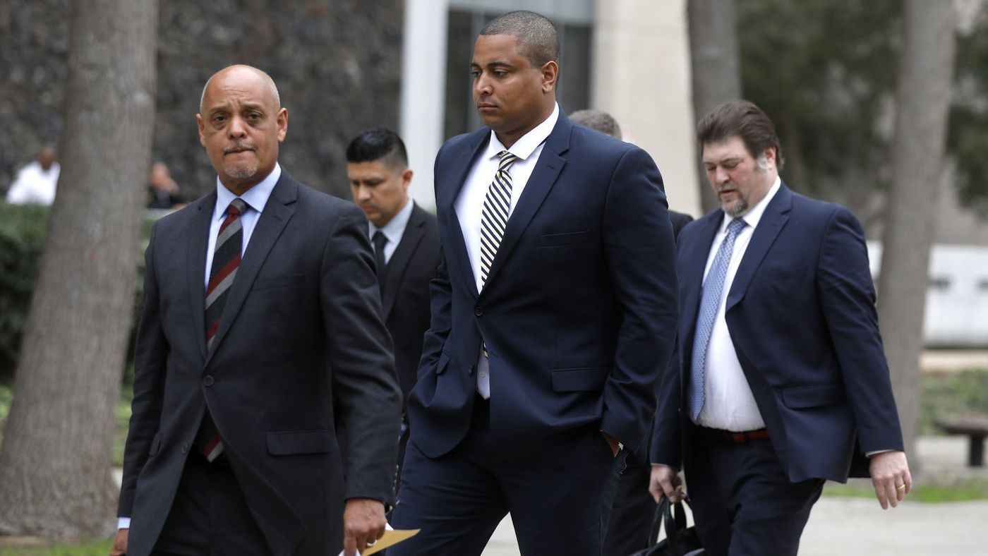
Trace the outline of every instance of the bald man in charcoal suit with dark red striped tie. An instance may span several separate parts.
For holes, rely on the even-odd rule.
[[[353,556],[384,532],[401,406],[367,220],[283,171],[267,73],[220,70],[196,119],[215,188],[144,254],[112,554]]]

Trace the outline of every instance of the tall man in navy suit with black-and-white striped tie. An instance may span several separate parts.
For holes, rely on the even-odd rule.
[[[391,556],[480,554],[511,513],[523,554],[599,555],[610,473],[655,410],[677,314],[662,179],[555,103],[552,24],[512,12],[470,64],[486,124],[436,159],[439,278],[408,399]]]

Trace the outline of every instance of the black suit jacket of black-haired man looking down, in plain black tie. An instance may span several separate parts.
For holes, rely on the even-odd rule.
[[[403,399],[415,385],[422,339],[429,330],[429,280],[439,268],[439,224],[419,205],[387,262],[383,297],[384,323],[394,342],[394,365]]]

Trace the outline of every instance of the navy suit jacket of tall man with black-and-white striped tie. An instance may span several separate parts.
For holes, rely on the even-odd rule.
[[[560,114],[477,292],[454,202],[490,130],[436,158],[444,258],[408,401],[430,457],[466,435],[481,339],[490,361],[493,448],[598,426],[641,444],[675,335],[676,274],[662,178],[640,148]]]

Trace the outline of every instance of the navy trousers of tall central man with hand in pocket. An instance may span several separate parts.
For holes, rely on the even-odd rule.
[[[589,426],[512,452],[489,444],[489,417],[489,402],[476,399],[466,437],[435,459],[409,440],[392,523],[422,532],[388,556],[479,555],[509,512],[523,555],[600,556],[608,476],[623,454]]]

